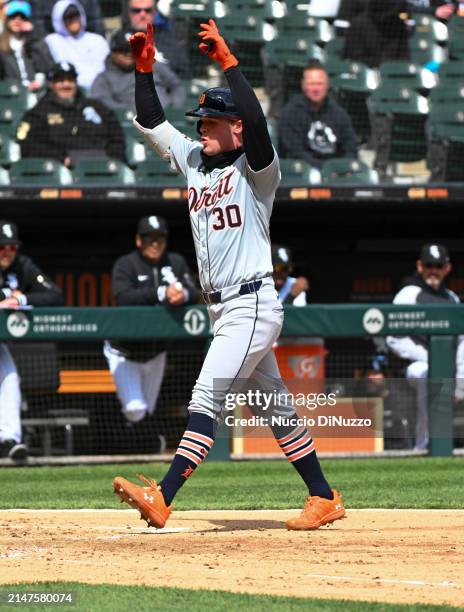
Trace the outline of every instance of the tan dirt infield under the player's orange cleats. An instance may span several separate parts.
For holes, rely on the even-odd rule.
[[[0,583],[66,580],[464,604],[464,511],[353,510],[288,532],[286,511],[0,511]]]

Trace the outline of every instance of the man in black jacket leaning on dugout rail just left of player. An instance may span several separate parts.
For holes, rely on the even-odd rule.
[[[166,252],[168,228],[162,217],[142,217],[137,249],[113,266],[113,293],[118,306],[182,306],[197,302],[197,289],[187,262]],[[166,351],[154,341],[107,340],[104,354],[116,384],[122,411],[132,423],[152,414],[166,365]]]

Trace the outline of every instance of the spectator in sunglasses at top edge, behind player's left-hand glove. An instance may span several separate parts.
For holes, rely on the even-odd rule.
[[[126,23],[122,29],[129,34],[145,32],[148,23],[154,24],[156,45],[154,75],[161,64],[167,64],[179,78],[192,78],[186,43],[176,38],[169,20],[157,19],[154,0],[129,0],[127,15],[122,17],[123,24]]]

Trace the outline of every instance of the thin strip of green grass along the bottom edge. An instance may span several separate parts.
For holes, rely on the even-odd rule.
[[[450,606],[429,605],[398,605],[342,599],[303,599],[300,597],[278,597],[273,595],[248,595],[244,593],[228,593],[226,591],[204,591],[187,589],[167,589],[146,586],[115,586],[115,585],[84,585],[80,583],[29,583],[12,585],[11,591],[18,592],[72,592],[73,606],[55,605],[47,609],[66,610],[74,612],[119,612],[137,610],[137,612],[233,612],[235,610],[251,610],[256,612],[279,612],[313,610],[317,612],[446,612],[447,610],[462,610]],[[0,587],[0,593],[8,592],[7,586]],[[14,606],[1,606],[0,609]],[[16,606],[18,607],[18,606]],[[27,605],[27,610],[44,610],[45,607]]]

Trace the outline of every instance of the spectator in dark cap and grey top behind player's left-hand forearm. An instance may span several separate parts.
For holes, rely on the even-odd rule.
[[[135,73],[132,50],[127,42],[129,33],[118,30],[110,41],[111,55],[106,69],[90,88],[90,96],[109,108],[134,108]],[[185,88],[167,64],[159,63],[153,72],[156,91],[163,108],[180,108],[185,101]]]

